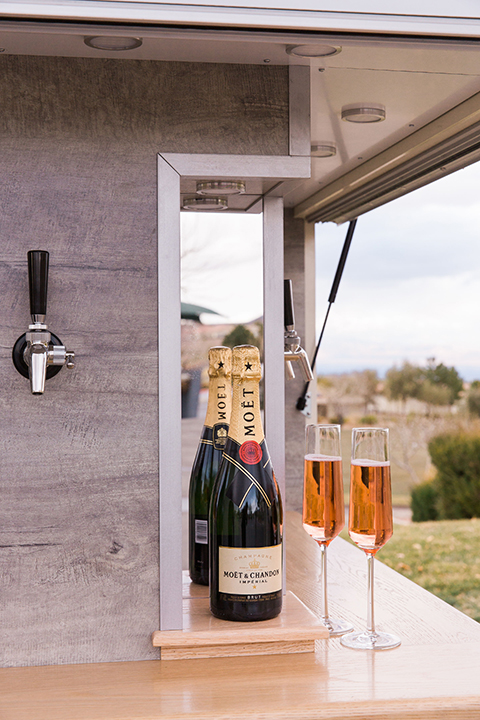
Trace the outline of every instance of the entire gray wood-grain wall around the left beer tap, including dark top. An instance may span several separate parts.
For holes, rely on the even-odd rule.
[[[1,665],[158,656],[156,152],[285,153],[287,81],[0,58]],[[38,248],[77,362],[32,396],[11,348]]]

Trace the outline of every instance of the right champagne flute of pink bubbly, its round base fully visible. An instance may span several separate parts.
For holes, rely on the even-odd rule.
[[[393,534],[387,428],[353,428],[348,533],[367,556],[367,629],[342,638],[345,647],[385,650],[400,645],[396,635],[375,630],[373,561]]]

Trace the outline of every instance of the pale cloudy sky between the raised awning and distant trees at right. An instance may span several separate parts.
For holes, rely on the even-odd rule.
[[[436,357],[480,377],[480,168],[359,218],[319,361],[339,371]],[[347,225],[317,226],[317,330]]]

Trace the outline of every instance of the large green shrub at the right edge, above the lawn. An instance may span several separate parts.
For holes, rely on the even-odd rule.
[[[428,451],[437,469],[439,519],[480,517],[480,437],[437,435]]]

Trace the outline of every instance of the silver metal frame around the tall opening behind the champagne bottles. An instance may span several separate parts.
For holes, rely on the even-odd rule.
[[[299,119],[303,122],[301,115]],[[291,125],[295,126],[295,122]],[[291,137],[294,127],[291,127]],[[300,148],[295,135],[291,146]],[[300,144],[299,144],[300,143]],[[293,179],[310,157],[158,154],[158,373],[160,629],[182,628],[180,181],[182,178]],[[263,198],[265,431],[285,491],[283,198]],[[279,388],[281,391],[279,392]]]

